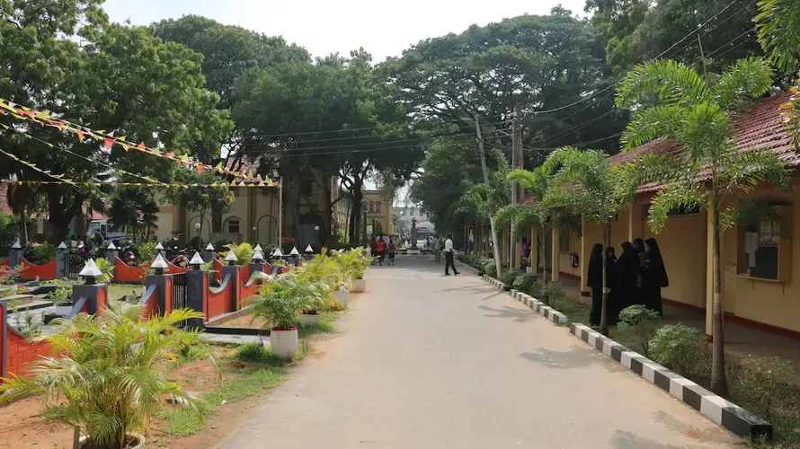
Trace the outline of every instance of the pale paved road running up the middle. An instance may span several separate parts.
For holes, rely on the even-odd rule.
[[[727,448],[738,441],[477,277],[430,259],[368,293],[227,443],[250,448]]]

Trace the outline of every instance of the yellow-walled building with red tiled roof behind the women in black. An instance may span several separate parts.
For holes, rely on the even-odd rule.
[[[757,101],[742,111],[733,123],[733,137],[740,151],[767,149],[778,154],[787,166],[800,166],[800,152],[784,127],[780,106],[791,93],[782,93]],[[659,139],[642,145],[635,151],[611,157],[611,163],[626,163],[643,154],[680,154],[681,148],[671,139]],[[654,234],[647,225],[647,209],[658,184],[639,188],[636,203],[620,211],[610,225],[610,242],[620,253],[622,242],[637,237],[654,237],[662,251],[669,276],[669,286],[662,289],[664,303],[705,311],[707,333],[711,334],[712,300],[712,236],[711,221],[706,210],[676,213],[661,233]],[[744,194],[733,192],[724,198],[723,207],[740,198],[767,198],[778,205],[792,235],[800,235],[800,176],[795,171],[795,190],[778,191],[761,185]],[[728,320],[739,321],[760,329],[800,338],[800,244],[795,244],[768,225],[736,226],[721,236],[723,304]],[[545,236],[532,230],[533,260],[552,269],[554,280],[559,277],[580,279],[583,295],[589,294],[586,285],[589,252],[596,242],[602,242],[600,228],[584,223],[583,232],[556,230]]]

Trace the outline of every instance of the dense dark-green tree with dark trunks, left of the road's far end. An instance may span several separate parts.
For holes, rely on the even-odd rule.
[[[337,177],[352,199],[351,238],[358,235],[369,177],[391,172],[407,179],[423,156],[423,140],[409,127],[406,111],[372,71],[371,57],[360,50],[350,58],[251,69],[236,82],[243,100],[234,119],[251,133],[239,157],[260,158],[263,170],[277,168],[289,186],[307,172]]]

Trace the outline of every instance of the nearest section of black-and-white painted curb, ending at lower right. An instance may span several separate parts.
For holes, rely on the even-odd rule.
[[[772,437],[772,425],[769,422],[742,409],[731,401],[709,392],[697,383],[672,373],[667,368],[659,365],[647,357],[632,351],[616,341],[604,337],[600,332],[592,330],[589,326],[573,322],[570,324],[570,333],[582,339],[602,352],[607,357],[616,360],[620,365],[645,381],[661,388],[664,392],[683,402],[692,409],[696,409],[704,417],[724,427],[729,432],[742,437]]]

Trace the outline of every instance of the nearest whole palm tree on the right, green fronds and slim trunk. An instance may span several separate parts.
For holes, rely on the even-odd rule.
[[[727,194],[754,189],[760,181],[790,188],[787,168],[769,151],[737,151],[731,122],[738,110],[769,92],[772,69],[760,58],[736,62],[722,75],[704,77],[671,60],[658,60],[631,70],[618,89],[619,107],[636,109],[623,134],[625,151],[668,137],[682,154],[651,154],[622,168],[620,184],[627,198],[646,182],[662,183],[648,220],[654,232],[669,213],[707,207],[713,225],[713,361],[711,390],[727,393],[724,372],[722,280],[720,267],[720,204]],[[656,104],[653,105],[653,101]],[[724,212],[733,214],[734,208]]]

